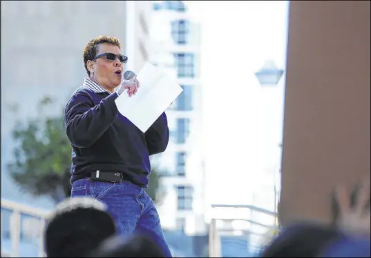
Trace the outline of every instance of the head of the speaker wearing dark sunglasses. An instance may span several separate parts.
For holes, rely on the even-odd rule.
[[[110,92],[120,85],[127,57],[121,54],[118,39],[106,36],[91,39],[84,48],[83,59],[90,79]]]

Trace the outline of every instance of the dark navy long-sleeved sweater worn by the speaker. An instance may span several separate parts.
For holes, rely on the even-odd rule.
[[[72,151],[71,183],[88,172],[122,172],[124,179],[146,187],[149,155],[163,152],[169,142],[165,113],[143,133],[118,112],[117,94],[79,88],[66,105],[64,121]]]

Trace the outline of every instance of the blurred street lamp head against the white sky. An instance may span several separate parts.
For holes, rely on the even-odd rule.
[[[260,86],[276,86],[282,75],[283,70],[278,69],[272,60],[265,61],[263,67],[258,72],[255,72]]]

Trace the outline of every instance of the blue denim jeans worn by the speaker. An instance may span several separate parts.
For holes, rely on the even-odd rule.
[[[86,178],[73,182],[71,198],[73,197],[92,197],[102,201],[113,217],[120,235],[130,235],[135,231],[150,232],[164,255],[172,257],[155,204],[144,192],[144,188],[130,181],[107,183]]]

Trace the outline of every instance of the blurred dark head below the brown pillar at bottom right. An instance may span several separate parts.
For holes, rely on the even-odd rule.
[[[318,257],[324,248],[343,236],[339,230],[328,226],[294,224],[283,229],[260,257]]]

